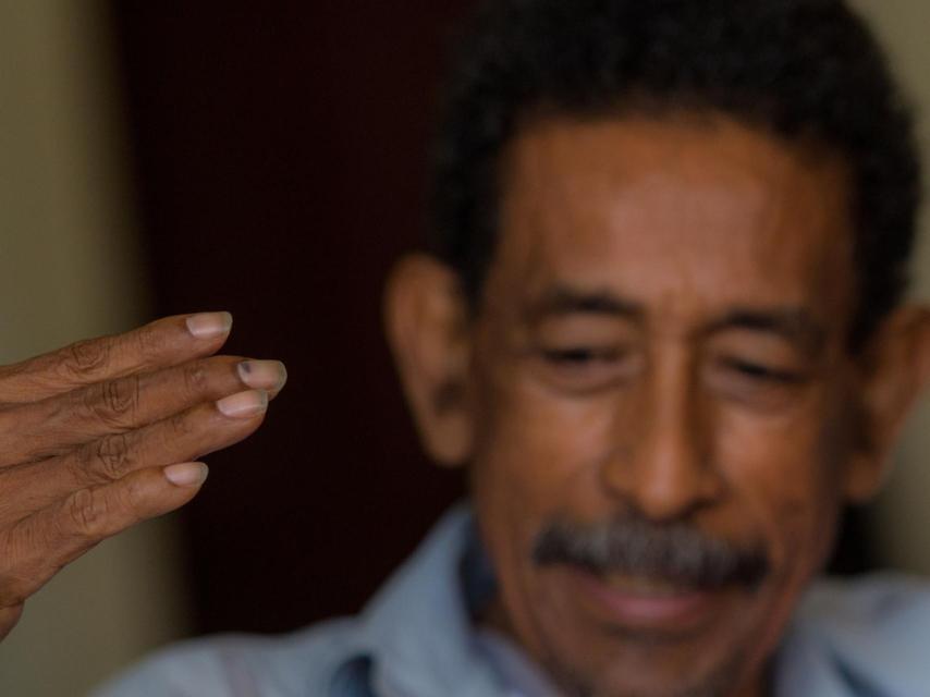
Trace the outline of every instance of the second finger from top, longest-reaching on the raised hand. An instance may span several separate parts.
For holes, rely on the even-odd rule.
[[[16,433],[0,453],[0,465],[54,456],[246,388],[264,390],[273,398],[286,377],[283,364],[277,360],[215,356],[21,405],[0,413],[0,432]]]

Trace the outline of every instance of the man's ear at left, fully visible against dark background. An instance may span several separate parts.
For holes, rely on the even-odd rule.
[[[427,453],[450,467],[472,454],[467,310],[455,273],[430,256],[405,257],[388,280],[384,320],[404,393]]]

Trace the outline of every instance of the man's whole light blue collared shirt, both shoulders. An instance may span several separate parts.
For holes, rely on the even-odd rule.
[[[488,590],[487,570],[466,563],[476,540],[470,512],[456,508],[357,617],[180,644],[97,697],[548,697],[517,647],[472,622]],[[816,584],[775,682],[778,697],[930,696],[927,586],[891,575]]]

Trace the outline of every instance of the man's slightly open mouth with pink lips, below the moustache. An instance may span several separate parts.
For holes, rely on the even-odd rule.
[[[580,602],[609,625],[627,631],[690,633],[710,622],[725,588],[697,587],[658,577],[568,570]],[[574,592],[574,591],[573,591]]]

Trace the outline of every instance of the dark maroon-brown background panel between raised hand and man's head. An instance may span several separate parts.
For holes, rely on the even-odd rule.
[[[184,513],[200,632],[357,610],[461,494],[416,444],[380,291],[423,232],[467,4],[112,2],[155,310],[229,309],[230,352],[290,369]],[[844,568],[865,561],[856,525]]]

